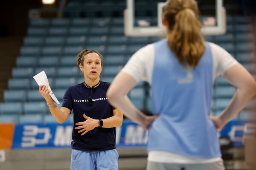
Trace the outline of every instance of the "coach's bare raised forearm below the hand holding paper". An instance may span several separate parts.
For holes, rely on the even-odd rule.
[[[49,110],[52,113],[52,116],[56,119],[58,123],[64,123],[67,118],[65,118],[64,113],[55,105],[55,103],[51,99],[46,99],[48,103]],[[51,105],[52,104],[52,105]]]

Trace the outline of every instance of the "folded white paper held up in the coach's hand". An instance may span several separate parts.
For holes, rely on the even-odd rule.
[[[48,90],[50,91],[49,95],[52,97],[52,99],[57,103],[60,104],[60,102],[58,101],[58,99],[55,97],[55,95],[53,94],[50,85],[49,85],[49,81],[47,79],[47,76],[45,74],[44,71],[38,73],[37,75],[35,75],[33,77],[35,79],[35,81],[37,82],[38,86],[39,85],[46,85],[46,87],[48,88]]]

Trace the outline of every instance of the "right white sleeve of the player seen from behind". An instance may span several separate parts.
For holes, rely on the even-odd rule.
[[[210,47],[212,51],[213,59],[213,81],[216,77],[222,75],[231,68],[233,65],[238,64],[239,62],[234,59],[224,48],[221,48],[219,45],[216,45],[210,42]]]

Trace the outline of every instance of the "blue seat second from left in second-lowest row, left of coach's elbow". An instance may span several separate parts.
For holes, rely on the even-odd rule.
[[[46,102],[25,102],[24,113],[25,114],[44,114],[48,111]]]

